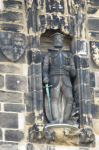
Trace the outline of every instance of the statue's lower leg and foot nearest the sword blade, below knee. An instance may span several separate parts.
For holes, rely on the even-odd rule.
[[[52,122],[51,123],[58,123],[58,102],[52,102]]]

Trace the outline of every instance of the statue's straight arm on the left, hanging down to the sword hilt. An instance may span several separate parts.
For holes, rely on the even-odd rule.
[[[48,71],[49,71],[49,53],[46,53],[43,58],[43,83],[45,84],[49,83]]]

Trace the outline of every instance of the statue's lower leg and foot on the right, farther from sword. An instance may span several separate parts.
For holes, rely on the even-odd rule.
[[[66,100],[67,100],[67,104],[64,111],[64,122],[69,119],[72,111],[72,104],[73,104],[73,98],[68,98]]]

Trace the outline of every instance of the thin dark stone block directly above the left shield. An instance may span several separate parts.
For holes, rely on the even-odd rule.
[[[4,30],[4,31],[20,32],[22,31],[22,29],[23,29],[22,25],[8,24],[8,23],[0,24],[0,30]]]

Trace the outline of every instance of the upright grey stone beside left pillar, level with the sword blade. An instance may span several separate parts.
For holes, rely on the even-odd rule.
[[[26,104],[26,111],[31,112],[33,110],[32,92],[24,93],[24,103]]]

